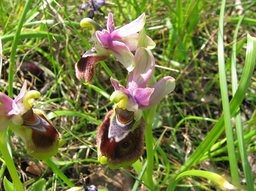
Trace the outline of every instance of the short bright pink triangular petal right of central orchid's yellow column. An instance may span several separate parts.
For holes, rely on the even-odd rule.
[[[154,88],[137,88],[133,91],[132,95],[135,97],[136,101],[140,105],[148,105],[150,101],[150,96],[154,92]]]

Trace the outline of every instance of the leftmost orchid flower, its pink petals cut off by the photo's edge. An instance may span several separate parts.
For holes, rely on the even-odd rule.
[[[33,110],[30,99],[39,98],[35,90],[26,93],[26,81],[20,94],[13,100],[0,92],[0,131],[10,125],[25,142],[28,155],[48,159],[63,145],[61,135],[40,110]]]

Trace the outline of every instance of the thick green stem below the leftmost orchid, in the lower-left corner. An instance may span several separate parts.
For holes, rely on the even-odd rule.
[[[0,151],[2,153],[8,171],[11,175],[11,178],[13,179],[13,185],[15,186],[15,189],[17,191],[23,191],[24,189],[20,181],[20,177],[13,163],[13,159],[11,158],[10,153],[7,149],[7,128],[0,131]]]

